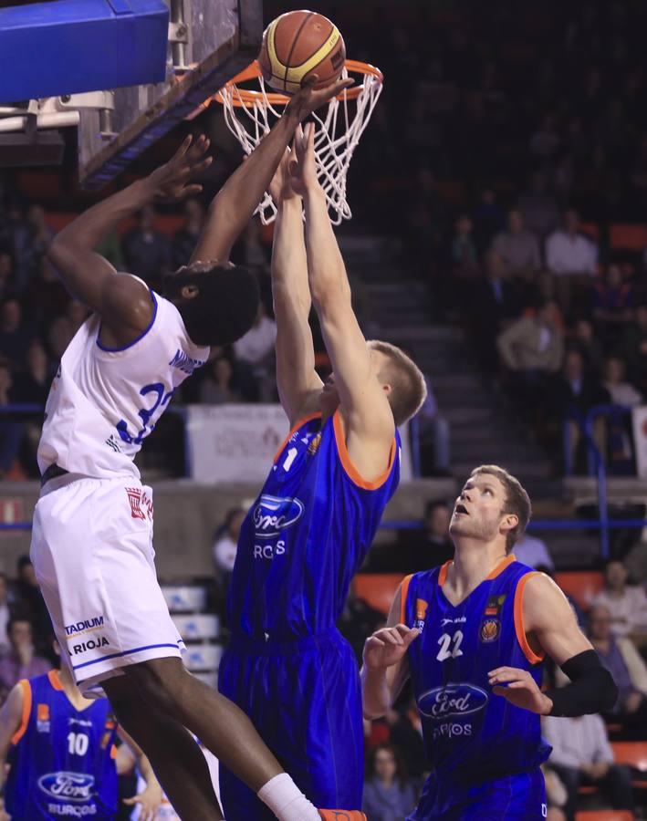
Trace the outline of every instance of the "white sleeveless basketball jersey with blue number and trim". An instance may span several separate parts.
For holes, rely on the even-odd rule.
[[[143,285],[143,284],[142,284]],[[178,309],[153,294],[150,326],[124,348],[99,343],[100,317],[78,329],[47,397],[38,468],[56,463],[98,478],[140,473],[133,459],[175,389],[206,361]]]

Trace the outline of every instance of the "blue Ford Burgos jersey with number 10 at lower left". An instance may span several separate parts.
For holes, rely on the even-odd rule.
[[[114,818],[117,728],[108,699],[79,712],[54,670],[20,686],[23,722],[12,738],[5,789],[12,821]]]

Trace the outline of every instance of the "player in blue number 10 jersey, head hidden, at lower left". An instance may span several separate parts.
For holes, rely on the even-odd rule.
[[[146,783],[127,803],[141,805],[140,818],[151,821],[162,789],[146,756],[117,726],[110,702],[84,699],[65,666],[19,681],[0,712],[0,821],[114,818],[117,733],[132,748]]]

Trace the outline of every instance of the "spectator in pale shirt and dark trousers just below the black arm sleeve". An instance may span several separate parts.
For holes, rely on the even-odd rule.
[[[558,774],[569,796],[564,805],[568,821],[575,821],[580,785],[597,786],[614,809],[634,811],[631,772],[615,764],[600,715],[547,715],[542,720],[542,735],[553,748],[548,765]]]

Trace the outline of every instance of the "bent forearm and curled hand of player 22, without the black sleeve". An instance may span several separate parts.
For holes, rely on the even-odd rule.
[[[419,635],[419,629],[402,624],[401,585],[393,598],[386,627],[373,633],[364,644],[360,674],[364,718],[381,718],[400,695],[409,678],[407,649]]]

